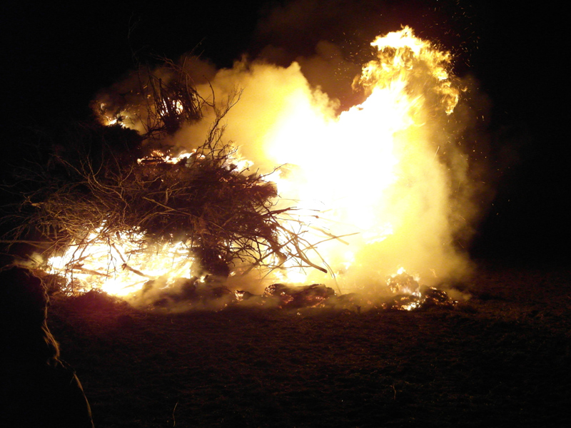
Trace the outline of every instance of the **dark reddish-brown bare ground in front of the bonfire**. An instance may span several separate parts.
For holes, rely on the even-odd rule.
[[[96,427],[569,427],[571,270],[480,267],[454,309],[166,315],[54,298]]]

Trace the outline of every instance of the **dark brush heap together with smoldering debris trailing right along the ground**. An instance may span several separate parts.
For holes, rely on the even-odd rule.
[[[47,168],[29,170],[23,177],[30,190],[18,207],[21,225],[12,230],[14,242],[36,233],[41,235],[38,245],[49,245],[46,262],[36,255],[28,265],[52,290],[102,290],[131,295],[146,307],[177,310],[411,310],[455,304],[443,291],[420,287],[406,272],[387,279],[395,297],[385,300],[337,295],[323,284],[274,283],[260,295],[232,291],[223,282],[238,263],[247,270],[278,269],[292,258],[313,265],[302,235],[283,225],[291,221],[290,209],[274,209],[276,185],[241,169],[236,151],[218,141],[208,141],[193,153],[170,156],[153,149],[149,156],[134,159],[129,151],[117,153],[107,141],[131,133],[112,128],[110,136],[105,128],[84,128],[90,143],[95,131],[102,132],[98,138],[103,141],[96,157],[83,153],[74,164],[65,154],[53,155]],[[38,190],[31,190],[34,185]]]

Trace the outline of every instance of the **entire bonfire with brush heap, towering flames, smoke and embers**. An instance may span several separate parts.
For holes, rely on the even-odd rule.
[[[408,27],[371,46],[340,113],[295,63],[139,68],[4,186],[3,242],[67,294],[145,307],[454,305],[434,285],[466,270],[473,213],[450,55]]]

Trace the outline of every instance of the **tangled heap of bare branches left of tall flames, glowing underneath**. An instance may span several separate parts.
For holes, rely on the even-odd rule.
[[[157,281],[223,280],[237,265],[313,265],[301,233],[284,225],[290,208],[275,208],[276,185],[221,142],[233,100],[208,104],[184,77],[167,85],[148,73],[143,135],[121,123],[78,126],[47,161],[19,170],[14,192],[24,198],[4,207],[4,222],[17,225],[6,241],[46,248],[32,267],[63,276],[66,292],[126,295]],[[161,145],[206,104],[216,121],[202,146],[173,154]]]

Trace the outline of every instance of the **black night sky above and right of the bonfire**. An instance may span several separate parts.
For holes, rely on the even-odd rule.
[[[474,256],[568,264],[569,73],[561,11],[460,0],[62,3],[1,6],[1,138],[9,156],[25,157],[39,130],[89,117],[94,94],[132,69],[133,56],[177,58],[195,49],[227,67],[268,44],[295,58],[327,40],[358,61],[375,35],[408,24],[451,49],[455,72],[475,76],[489,100],[482,147],[496,193]]]

